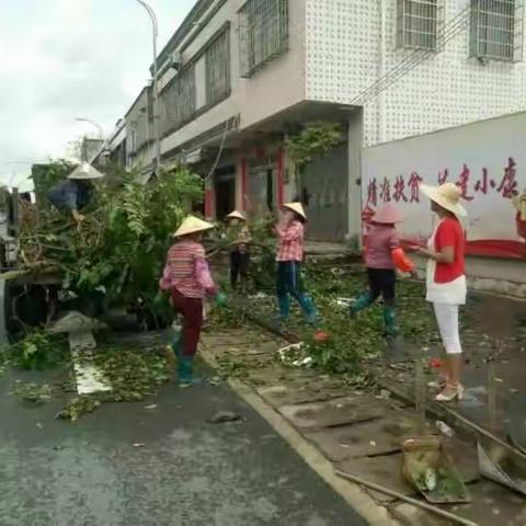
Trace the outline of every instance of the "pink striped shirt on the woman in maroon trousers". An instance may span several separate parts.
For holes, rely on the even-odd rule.
[[[167,277],[173,287],[188,298],[205,296],[196,274],[196,263],[199,260],[205,260],[205,249],[191,239],[179,241],[168,251]]]

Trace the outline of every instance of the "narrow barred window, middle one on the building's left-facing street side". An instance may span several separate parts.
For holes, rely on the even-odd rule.
[[[230,93],[230,28],[227,27],[205,52],[206,103],[220,102]]]

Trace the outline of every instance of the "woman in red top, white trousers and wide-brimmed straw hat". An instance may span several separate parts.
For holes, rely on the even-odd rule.
[[[426,249],[420,252],[428,258],[426,268],[426,299],[433,304],[436,322],[446,352],[444,361],[445,386],[435,400],[453,401],[462,398],[460,368],[462,346],[458,328],[458,311],[466,305],[465,235],[459,217],[467,216],[460,205],[461,190],[453,183],[442,186],[421,186],[431,199],[431,209],[438,222]]]

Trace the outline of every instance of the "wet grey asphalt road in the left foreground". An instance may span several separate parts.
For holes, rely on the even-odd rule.
[[[167,386],[71,424],[58,403],[22,405],[13,381],[0,378],[1,526],[366,524],[227,387]],[[217,410],[245,421],[208,424]]]

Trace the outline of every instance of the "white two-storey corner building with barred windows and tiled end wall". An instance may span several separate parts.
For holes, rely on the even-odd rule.
[[[523,25],[519,0],[198,0],[159,57],[162,162],[203,174],[208,216],[301,191],[311,236],[357,236],[364,146],[526,110]],[[148,92],[132,165],[151,162]],[[348,134],[297,188],[284,137],[315,119]]]

